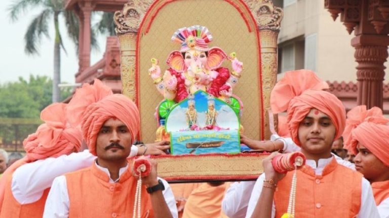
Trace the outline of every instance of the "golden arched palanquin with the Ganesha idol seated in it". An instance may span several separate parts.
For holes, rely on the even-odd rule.
[[[154,157],[159,176],[262,173],[266,154],[241,152],[240,134],[265,140],[277,125],[267,111],[281,19],[270,0],[130,1],[115,13],[123,94],[141,115],[138,138],[171,142],[170,155]]]

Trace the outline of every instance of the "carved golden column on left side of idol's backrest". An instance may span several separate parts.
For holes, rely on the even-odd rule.
[[[122,11],[116,11],[113,16],[121,50],[122,93],[135,102],[136,38],[142,18],[152,1],[130,0]]]

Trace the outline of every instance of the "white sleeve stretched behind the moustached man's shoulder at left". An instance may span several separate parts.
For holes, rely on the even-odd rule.
[[[132,146],[130,156],[138,153]],[[54,178],[65,173],[90,167],[96,156],[89,150],[59,157],[49,157],[20,166],[12,175],[12,194],[20,204],[28,204],[41,199],[45,189],[50,188]]]

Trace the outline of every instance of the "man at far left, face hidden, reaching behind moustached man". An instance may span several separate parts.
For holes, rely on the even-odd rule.
[[[109,87],[96,80],[94,85],[84,84],[73,98],[92,103],[112,94]],[[88,100],[89,98],[89,100]],[[0,217],[42,217],[51,184],[55,177],[89,167],[96,156],[81,149],[82,133],[79,127],[68,125],[68,108],[80,103],[54,103],[41,113],[45,124],[24,140],[26,157],[10,166],[0,182]],[[82,114],[82,111],[74,114]],[[148,144],[147,152],[155,152],[164,145]],[[131,147],[130,156],[142,154],[145,146]],[[154,154],[157,154],[155,152]],[[4,200],[6,199],[6,200]]]

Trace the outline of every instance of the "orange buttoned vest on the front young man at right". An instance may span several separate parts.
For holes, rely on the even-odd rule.
[[[276,217],[288,210],[293,171],[278,184],[274,195]],[[309,166],[297,171],[295,216],[299,218],[355,217],[361,207],[362,175],[338,165],[335,158],[315,175]]]

